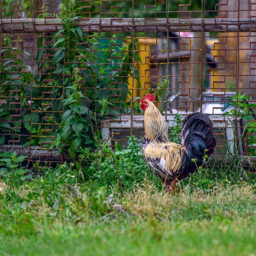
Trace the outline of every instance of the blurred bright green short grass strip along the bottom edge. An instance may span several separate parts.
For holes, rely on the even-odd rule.
[[[155,231],[156,229],[157,231]],[[1,255],[253,255],[250,222],[158,223],[113,220],[82,226],[47,225],[37,235],[1,236]]]

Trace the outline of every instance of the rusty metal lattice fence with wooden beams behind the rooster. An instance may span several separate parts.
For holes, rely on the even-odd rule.
[[[207,113],[214,121],[216,154],[254,159],[256,3],[2,0],[0,5],[1,152],[15,150],[47,163],[66,160],[68,150],[58,151],[58,145],[70,106],[65,104],[74,96],[68,90],[78,79],[80,102],[90,101],[99,137],[113,147],[115,141],[125,146],[128,136],[142,137],[138,103],[145,93],[155,93],[170,128],[179,116]],[[76,17],[73,48],[61,33],[65,8]],[[81,135],[77,148],[92,146],[82,116],[85,130],[73,131],[71,124],[67,134]]]

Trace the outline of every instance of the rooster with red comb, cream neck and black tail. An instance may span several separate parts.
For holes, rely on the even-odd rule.
[[[205,154],[213,154],[216,140],[212,121],[205,114],[196,112],[183,121],[181,145],[170,142],[167,123],[154,101],[155,96],[148,94],[140,102],[145,127],[142,153],[152,172],[163,180],[168,192],[172,192],[177,180],[186,178],[196,171],[197,166],[202,166]]]

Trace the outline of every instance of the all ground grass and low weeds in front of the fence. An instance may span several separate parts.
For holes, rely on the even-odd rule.
[[[211,163],[167,195],[135,138],[108,152],[123,196],[101,150],[84,152],[80,170],[45,166],[42,175],[4,153],[1,255],[256,255],[255,179],[239,162]]]

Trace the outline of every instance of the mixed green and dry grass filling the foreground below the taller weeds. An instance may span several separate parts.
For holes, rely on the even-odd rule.
[[[1,255],[256,253],[256,195],[248,183],[169,196],[148,181],[108,205],[104,189],[93,197],[65,184],[53,189],[47,179],[1,188]]]

